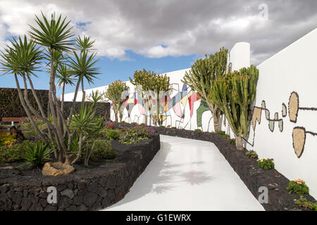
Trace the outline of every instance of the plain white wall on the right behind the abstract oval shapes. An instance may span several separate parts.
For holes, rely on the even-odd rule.
[[[271,119],[278,113],[282,118],[283,130],[275,122],[274,131],[268,129],[268,120],[262,110],[261,124],[256,124],[255,137],[251,128],[247,148],[254,149],[259,158],[273,158],[275,167],[288,179],[304,179],[311,195],[317,198],[317,136],[306,134],[304,151],[300,158],[292,146],[292,130],[304,127],[306,131],[317,133],[317,111],[299,110],[297,122],[290,122],[288,103],[292,91],[299,95],[299,107],[317,108],[317,29],[306,34],[268,58],[260,65],[259,81],[255,105],[261,107],[262,101],[270,111]],[[287,116],[282,117],[282,103],[287,107]],[[254,139],[254,140],[253,140]]]

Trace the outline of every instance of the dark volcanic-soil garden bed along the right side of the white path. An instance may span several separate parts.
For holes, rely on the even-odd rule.
[[[118,126],[119,124],[116,124]],[[131,124],[121,123],[121,127],[130,127]],[[154,127],[156,134],[169,136],[178,136],[186,139],[196,139],[209,141],[216,145],[220,153],[229,162],[232,169],[240,176],[240,179],[249,188],[256,199],[261,194],[259,188],[265,186],[268,188],[268,203],[262,203],[265,210],[309,210],[299,207],[294,203],[294,199],[299,199],[296,193],[289,193],[286,188],[290,182],[285,176],[276,169],[264,170],[259,168],[255,158],[247,158],[247,150],[237,150],[228,140],[216,133],[203,131],[190,131],[186,129],[173,129],[164,127]],[[303,195],[309,201],[316,200],[308,194]]]

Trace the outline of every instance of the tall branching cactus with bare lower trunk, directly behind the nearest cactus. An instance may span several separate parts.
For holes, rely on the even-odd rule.
[[[214,55],[205,56],[195,61],[189,72],[186,72],[183,83],[199,93],[199,98],[206,102],[213,115],[213,127],[215,131],[221,129],[219,124],[220,109],[213,99],[208,98],[213,88],[213,80],[225,75],[227,66],[228,49],[222,47]]]

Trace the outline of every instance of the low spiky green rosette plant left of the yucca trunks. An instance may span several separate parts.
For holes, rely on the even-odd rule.
[[[44,143],[44,141],[35,141],[31,143],[30,141],[23,142],[23,153],[17,153],[21,158],[26,160],[20,166],[28,165],[29,168],[37,168],[42,167],[45,162],[49,161],[51,158],[51,150],[49,147],[49,143]]]

